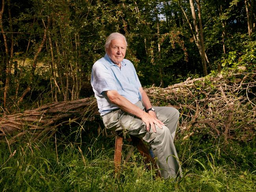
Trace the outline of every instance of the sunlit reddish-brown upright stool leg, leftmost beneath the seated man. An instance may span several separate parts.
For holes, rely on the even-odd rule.
[[[118,176],[119,176],[121,159],[122,159],[122,137],[116,136],[114,164],[115,164],[115,174],[118,174]]]

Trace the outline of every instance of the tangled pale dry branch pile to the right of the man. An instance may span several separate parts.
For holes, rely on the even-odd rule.
[[[216,137],[223,134],[225,143],[228,139],[250,140],[256,135],[255,75],[188,78],[165,89],[149,88],[147,92],[155,105],[166,102],[180,111],[183,139],[196,131]]]

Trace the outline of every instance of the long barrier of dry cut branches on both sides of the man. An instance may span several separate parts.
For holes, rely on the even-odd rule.
[[[169,105],[180,111],[183,139],[196,132],[229,139],[255,137],[255,73],[228,74],[190,79],[167,88],[145,89],[154,105]],[[0,140],[12,143],[23,135],[41,140],[70,122],[94,120],[99,115],[96,100],[85,98],[55,102],[23,113],[0,118]]]

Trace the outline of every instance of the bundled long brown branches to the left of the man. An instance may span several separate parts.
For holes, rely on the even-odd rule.
[[[37,109],[0,118],[0,138],[10,135],[8,141],[13,143],[23,135],[29,134],[33,140],[40,140],[51,137],[61,125],[74,121],[94,120],[97,114],[94,98],[49,103]]]

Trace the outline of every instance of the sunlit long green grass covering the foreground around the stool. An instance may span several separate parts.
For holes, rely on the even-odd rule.
[[[96,135],[96,134],[95,134]],[[0,191],[256,191],[255,141],[233,143],[224,150],[219,140],[199,135],[176,148],[184,177],[177,181],[154,178],[135,151],[117,179],[113,168],[114,138],[87,135],[76,144],[67,140],[0,145]],[[241,159],[242,158],[242,159]],[[152,176],[153,175],[153,176]]]

